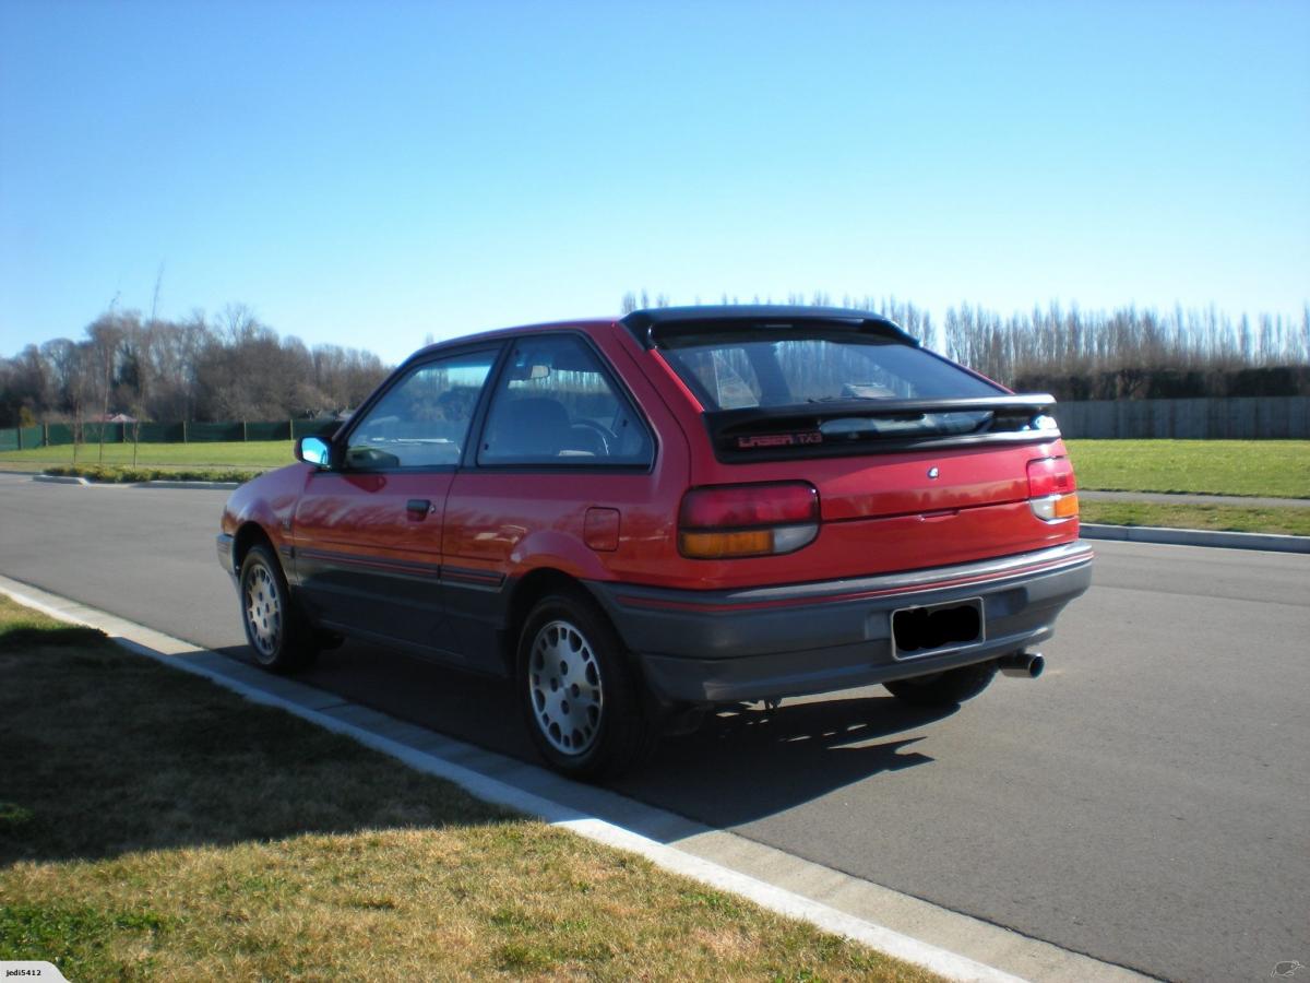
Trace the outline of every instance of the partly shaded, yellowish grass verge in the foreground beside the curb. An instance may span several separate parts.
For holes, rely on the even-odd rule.
[[[933,979],[0,596],[0,959],[98,979]]]

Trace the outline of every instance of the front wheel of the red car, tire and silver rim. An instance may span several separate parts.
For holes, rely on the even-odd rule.
[[[261,668],[295,672],[317,655],[313,629],[296,608],[282,564],[263,543],[241,561],[241,624]]]

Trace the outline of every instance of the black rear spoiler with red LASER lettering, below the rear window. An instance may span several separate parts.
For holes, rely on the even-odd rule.
[[[803,406],[709,410],[705,426],[714,455],[724,463],[828,457],[975,443],[1053,440],[1060,436],[1049,415],[1055,404],[1049,393],[950,400],[832,400]],[[887,434],[878,433],[875,425],[875,421],[913,422],[930,414],[980,412],[992,415],[965,434]],[[859,422],[865,419],[870,421],[870,426],[862,430]],[[834,430],[833,421],[842,421],[842,426]]]

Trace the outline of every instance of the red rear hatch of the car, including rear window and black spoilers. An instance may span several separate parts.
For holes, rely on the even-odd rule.
[[[711,455],[693,455],[694,484],[817,490],[812,543],[723,560],[715,579],[730,569],[734,582],[863,575],[1077,539],[1077,519],[1047,520],[1030,503],[1065,456],[1052,397],[1010,393],[875,316],[837,315],[638,325],[698,404],[692,426]],[[1072,472],[1060,490],[1073,490]]]

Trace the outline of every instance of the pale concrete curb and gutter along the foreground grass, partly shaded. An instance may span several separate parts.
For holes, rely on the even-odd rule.
[[[664,870],[748,898],[764,908],[808,921],[947,979],[997,983],[1022,979],[1051,983],[1150,979],[1123,966],[1100,962],[800,860],[732,832],[705,827],[607,789],[578,785],[536,765],[397,721],[335,693],[271,676],[253,666],[3,575],[0,592],[59,620],[100,628],[130,651],[204,676],[248,700],[284,709],[328,730],[352,737],[417,771],[453,781],[487,802],[540,817],[587,839],[637,853]],[[798,890],[789,890],[785,885],[794,885]],[[823,898],[833,903],[828,904]],[[897,927],[882,924],[884,921]],[[934,941],[916,937],[925,935]],[[950,948],[945,948],[947,945]],[[959,954],[959,949],[972,954]],[[1007,969],[998,969],[997,963]]]

